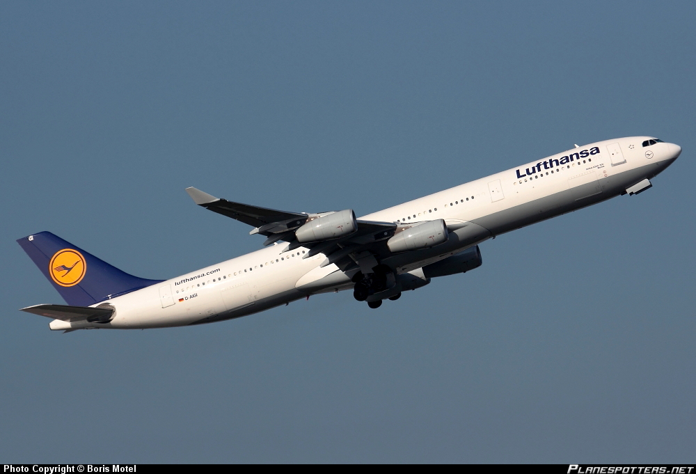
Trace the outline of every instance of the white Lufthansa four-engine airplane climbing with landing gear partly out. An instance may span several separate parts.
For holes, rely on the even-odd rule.
[[[259,313],[353,290],[379,308],[432,278],[482,264],[479,244],[615,196],[633,196],[681,154],[651,136],[578,146],[356,219],[353,210],[287,212],[186,191],[200,207],[252,226],[264,248],[169,280],[125,273],[51,232],[17,242],[67,305],[22,311],[49,328],[148,329]]]

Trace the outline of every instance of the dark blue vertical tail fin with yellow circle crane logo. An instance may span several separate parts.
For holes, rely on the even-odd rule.
[[[129,275],[51,232],[17,243],[71,306],[90,306],[162,281]]]

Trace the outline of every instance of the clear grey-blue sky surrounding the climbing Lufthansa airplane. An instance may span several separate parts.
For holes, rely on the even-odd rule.
[[[693,460],[696,4],[0,4],[3,462]],[[15,239],[145,278],[260,248],[184,188],[367,214],[632,135],[640,196],[482,244],[369,310],[48,330]]]

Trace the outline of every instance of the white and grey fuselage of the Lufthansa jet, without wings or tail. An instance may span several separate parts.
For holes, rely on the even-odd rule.
[[[399,274],[412,271],[503,232],[618,196],[654,177],[679,156],[681,148],[672,143],[643,147],[648,139],[651,137],[638,136],[592,143],[360,219],[400,225],[445,219],[448,227],[477,230],[467,238],[451,232],[450,241],[444,244],[400,253],[389,262]],[[51,329],[143,329],[213,322],[352,286],[349,278],[327,278],[340,269],[335,264],[320,267],[325,255],[303,258],[308,248],[283,252],[288,245],[271,245],[109,299],[116,313],[107,324],[56,319]]]

